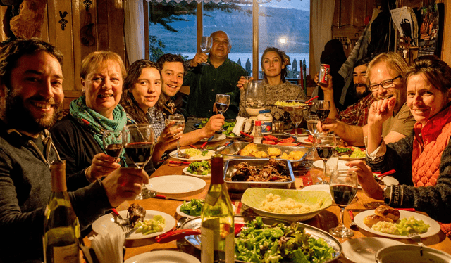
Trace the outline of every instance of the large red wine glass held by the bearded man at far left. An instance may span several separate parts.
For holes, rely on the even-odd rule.
[[[147,162],[152,158],[155,146],[155,134],[150,124],[127,125],[122,130],[122,144],[128,158],[132,160],[138,169],[144,169]],[[149,191],[144,184],[141,186],[141,193],[136,199],[150,198],[152,191]]]

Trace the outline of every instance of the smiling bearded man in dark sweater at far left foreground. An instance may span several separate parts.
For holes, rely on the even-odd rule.
[[[62,63],[61,52],[41,39],[12,41],[0,49],[0,262],[43,260],[49,163],[59,160],[47,129],[63,103]],[[147,182],[141,169],[121,168],[69,192],[81,229],[134,200]]]

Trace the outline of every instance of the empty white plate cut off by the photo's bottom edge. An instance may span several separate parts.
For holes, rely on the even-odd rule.
[[[124,263],[200,263],[199,259],[193,255],[173,251],[161,250],[145,252],[125,260]]]

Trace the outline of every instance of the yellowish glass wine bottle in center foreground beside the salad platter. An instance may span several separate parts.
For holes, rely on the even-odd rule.
[[[222,155],[211,158],[211,184],[201,214],[202,263],[235,262],[232,202],[223,175]]]

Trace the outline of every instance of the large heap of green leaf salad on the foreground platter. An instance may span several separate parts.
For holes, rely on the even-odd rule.
[[[326,241],[305,233],[299,222],[266,226],[256,217],[235,238],[236,259],[245,262],[324,262],[334,253]]]

